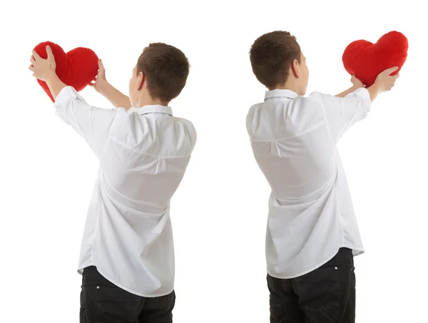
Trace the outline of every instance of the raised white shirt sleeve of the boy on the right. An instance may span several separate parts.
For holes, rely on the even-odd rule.
[[[323,106],[330,133],[335,143],[342,138],[342,135],[354,123],[366,118],[372,106],[367,88],[359,88],[357,91],[345,96],[345,98],[319,92],[311,93],[310,98],[317,99]]]

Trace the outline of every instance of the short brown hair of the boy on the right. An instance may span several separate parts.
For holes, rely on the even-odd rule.
[[[251,67],[255,77],[267,88],[288,79],[292,61],[300,63],[299,43],[288,31],[272,31],[255,40],[250,48]]]

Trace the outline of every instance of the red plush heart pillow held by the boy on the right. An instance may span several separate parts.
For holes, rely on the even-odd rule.
[[[391,75],[399,72],[406,61],[408,48],[406,36],[398,31],[384,34],[377,43],[353,41],[343,53],[343,66],[365,86],[372,86],[379,73],[387,68],[398,66]]]

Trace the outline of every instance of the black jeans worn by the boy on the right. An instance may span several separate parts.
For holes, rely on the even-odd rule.
[[[267,275],[271,323],[355,323],[355,267],[352,250],[309,274],[280,280]]]

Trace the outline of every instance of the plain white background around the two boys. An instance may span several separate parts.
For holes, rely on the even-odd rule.
[[[143,47],[182,49],[188,84],[170,105],[198,143],[172,201],[175,322],[269,322],[265,225],[269,188],[245,116],[263,101],[248,50],[260,35],[297,36],[308,92],[350,86],[342,53],[397,30],[409,39],[393,91],[340,141],[366,247],[356,258],[357,322],[422,322],[427,307],[427,20],[423,1],[4,1],[1,27],[0,322],[78,322],[78,252],[97,160],[54,114],[27,69],[53,41],[103,59],[128,93]],[[93,88],[81,94],[111,108]],[[421,317],[422,314],[422,317]]]

